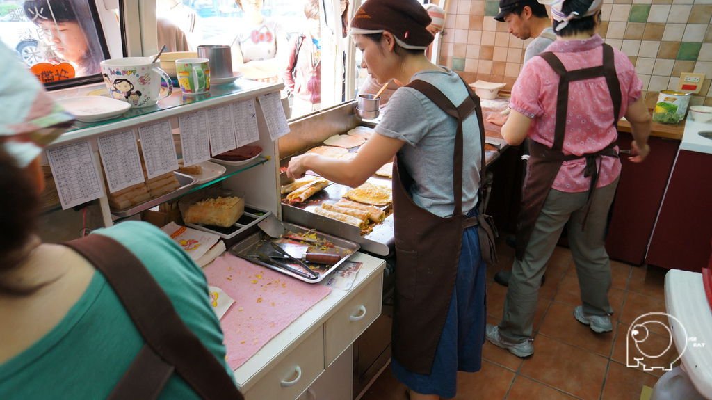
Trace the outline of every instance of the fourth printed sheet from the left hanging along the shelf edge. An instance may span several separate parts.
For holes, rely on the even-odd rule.
[[[198,164],[210,159],[208,112],[197,111],[178,117],[183,164]]]

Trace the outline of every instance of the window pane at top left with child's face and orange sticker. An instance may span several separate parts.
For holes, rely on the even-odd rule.
[[[48,87],[100,79],[108,58],[93,0],[0,1],[0,36]]]

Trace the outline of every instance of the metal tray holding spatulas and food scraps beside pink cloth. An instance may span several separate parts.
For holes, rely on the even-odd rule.
[[[274,253],[274,250],[271,248],[271,245],[269,243],[273,239],[261,231],[258,233],[255,233],[251,236],[248,236],[248,238],[246,238],[244,241],[241,241],[241,242],[237,243],[235,246],[232,246],[229,249],[229,252],[231,254],[234,254],[235,256],[240,257],[240,258],[246,258],[246,259],[250,260],[251,263],[255,263],[257,265],[262,265],[263,267],[270,268],[272,270],[276,270],[278,273],[283,273],[285,275],[289,275],[292,278],[302,280],[306,283],[318,283],[318,282],[321,282],[324,278],[326,278],[327,275],[329,275],[334,270],[339,268],[339,266],[342,263],[344,263],[346,260],[348,260],[350,258],[350,256],[352,256],[352,254],[356,253],[361,248],[361,246],[359,246],[357,243],[346,241],[342,238],[337,238],[336,236],[331,236],[326,233],[321,233],[321,232],[315,231],[313,229],[304,228],[303,226],[298,226],[293,223],[283,222],[283,226],[286,229],[286,231],[288,231],[288,232],[316,233],[316,236],[318,238],[326,240],[326,241],[330,241],[331,243],[334,244],[334,247],[330,248],[329,252],[339,254],[341,256],[341,260],[339,260],[338,263],[335,263],[334,265],[331,265],[329,267],[313,268],[312,270],[319,274],[319,278],[316,278],[316,279],[303,278],[303,277],[296,275],[295,273],[292,273],[288,270],[284,270],[282,268],[276,267],[274,265],[270,265],[268,263],[263,263],[261,260],[259,260],[257,258],[249,257],[250,255],[257,254],[260,251],[267,253],[267,254]],[[279,240],[279,239],[276,239],[276,240]],[[325,252],[321,248],[319,248],[318,251]],[[281,260],[281,262],[286,263],[288,265],[295,265],[288,260]],[[295,268],[298,268],[298,266],[295,266]]]

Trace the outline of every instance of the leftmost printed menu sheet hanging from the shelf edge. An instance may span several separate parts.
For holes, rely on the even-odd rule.
[[[104,185],[89,142],[47,149],[47,159],[63,210],[104,196]]]

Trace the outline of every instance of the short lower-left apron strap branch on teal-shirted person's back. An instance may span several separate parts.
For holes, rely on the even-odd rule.
[[[108,399],[157,399],[173,372],[172,365],[144,344]]]

